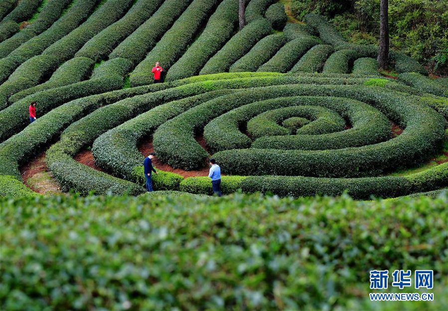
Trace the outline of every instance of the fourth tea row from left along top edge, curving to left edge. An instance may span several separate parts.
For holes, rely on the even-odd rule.
[[[33,56],[41,54],[47,47],[69,34],[92,13],[99,0],[77,0],[66,14],[50,28],[20,45],[6,57],[0,59],[0,83]]]

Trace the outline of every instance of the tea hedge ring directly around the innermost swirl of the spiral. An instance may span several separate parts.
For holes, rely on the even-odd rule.
[[[251,139],[241,133],[238,128],[239,124],[251,120],[253,116],[269,110],[271,107],[275,109],[295,105],[295,103],[319,105],[333,109],[344,118],[349,119],[350,123],[353,124],[353,128],[340,133],[319,136],[264,137],[257,139],[253,144]],[[253,121],[255,119],[252,119],[250,122],[253,123]],[[275,135],[271,133],[271,130],[274,131],[280,127],[273,127],[271,125],[270,127],[263,128],[263,125],[257,124],[255,121],[255,124],[252,126],[258,126],[259,130],[255,128],[251,129],[251,124],[247,125],[247,130],[248,132],[252,132],[252,137],[254,137],[254,135],[257,136],[257,132],[260,134],[263,132],[263,134]],[[289,134],[287,129],[280,127],[280,130],[282,129],[284,134]],[[300,129],[301,131],[298,130],[298,133],[309,134],[310,129],[312,127],[308,130],[304,127]],[[319,129],[319,126],[317,126],[317,129]],[[263,134],[260,136],[263,136]],[[339,149],[377,143],[387,139],[389,134],[390,123],[377,109],[361,102],[331,97],[280,98],[247,104],[215,118],[204,128],[204,138],[212,150],[248,148],[251,144],[255,148],[272,149]]]

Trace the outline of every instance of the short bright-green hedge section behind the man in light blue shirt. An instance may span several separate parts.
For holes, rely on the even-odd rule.
[[[221,191],[223,195],[230,195],[232,193],[241,191],[241,183],[246,179],[244,176],[222,176],[221,177]],[[204,177],[190,177],[184,179],[180,183],[180,191],[212,196],[211,179]]]

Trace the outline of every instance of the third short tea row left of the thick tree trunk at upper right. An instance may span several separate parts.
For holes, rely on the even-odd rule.
[[[325,61],[332,52],[333,48],[330,45],[315,45],[300,58],[290,72],[320,72],[325,64]],[[330,71],[328,73],[332,72]]]

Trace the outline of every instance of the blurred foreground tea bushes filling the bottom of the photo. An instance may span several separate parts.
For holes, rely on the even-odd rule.
[[[0,309],[446,310],[447,204],[0,199]],[[391,267],[434,269],[435,301],[370,304],[369,270]]]

